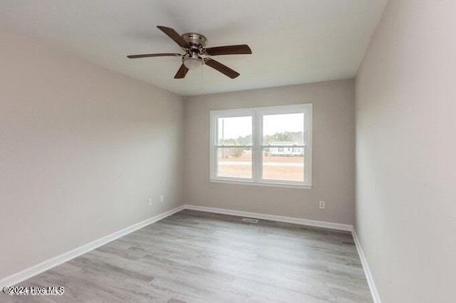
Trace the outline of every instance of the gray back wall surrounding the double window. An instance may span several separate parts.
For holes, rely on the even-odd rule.
[[[314,103],[312,189],[210,183],[209,111]],[[341,80],[185,100],[185,203],[353,224],[354,81]],[[318,209],[318,201],[326,209]]]

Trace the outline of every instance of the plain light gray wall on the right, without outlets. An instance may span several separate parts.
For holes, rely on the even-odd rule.
[[[356,78],[356,230],[382,302],[455,302],[456,1],[390,0]]]

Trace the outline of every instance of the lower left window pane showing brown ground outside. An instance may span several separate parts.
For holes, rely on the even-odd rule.
[[[252,179],[252,149],[217,148],[217,176]]]

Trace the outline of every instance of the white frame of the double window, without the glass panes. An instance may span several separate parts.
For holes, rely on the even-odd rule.
[[[263,175],[263,163],[261,157],[263,156],[262,149],[264,147],[271,147],[271,145],[262,145],[263,133],[263,115],[281,115],[281,114],[296,114],[304,113],[304,129],[307,132],[306,151],[304,153],[304,181],[279,181],[279,180],[266,180],[261,179]],[[211,110],[210,111],[210,139],[209,139],[209,181],[217,183],[228,184],[247,184],[257,186],[279,186],[279,187],[292,187],[292,188],[311,188],[312,187],[312,119],[313,119],[313,105],[312,103],[299,104],[299,105],[283,105],[271,107],[254,107],[242,108],[235,110]],[[239,146],[252,148],[252,179],[232,178],[217,176],[217,119],[226,117],[252,117],[252,146]],[[231,147],[225,146],[223,147]],[[236,146],[238,147],[238,146]],[[298,146],[301,147],[301,146]]]

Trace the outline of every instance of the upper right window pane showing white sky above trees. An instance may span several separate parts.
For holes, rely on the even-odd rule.
[[[306,145],[304,113],[264,115],[263,145]]]

